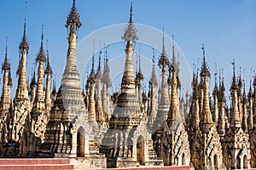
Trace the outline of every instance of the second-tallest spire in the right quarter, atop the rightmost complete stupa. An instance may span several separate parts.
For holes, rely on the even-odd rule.
[[[235,59],[232,62],[233,65],[233,80],[231,84],[231,97],[232,97],[232,104],[231,104],[231,120],[230,120],[230,127],[233,128],[239,128],[241,127],[241,121],[239,117],[239,112],[238,112],[238,96],[237,96],[237,90],[238,90],[238,85],[236,83],[236,63]]]

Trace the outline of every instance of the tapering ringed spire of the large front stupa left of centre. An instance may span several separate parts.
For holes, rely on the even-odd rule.
[[[73,1],[73,7],[67,16],[67,23],[65,25],[68,30],[67,62],[61,79],[61,93],[58,93],[61,94],[63,102],[63,105],[61,104],[60,107],[68,111],[73,111],[72,114],[67,115],[68,121],[73,121],[73,117],[77,114],[76,111],[85,110],[76,57],[76,41],[79,27],[82,24],[75,4],[76,2]],[[73,105],[74,103],[77,105]]]

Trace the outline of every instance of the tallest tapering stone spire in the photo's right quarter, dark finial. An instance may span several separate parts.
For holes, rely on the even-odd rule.
[[[203,88],[203,107],[202,107],[202,131],[207,132],[210,127],[212,127],[212,114],[210,111],[210,102],[209,102],[209,87],[208,87],[208,77],[210,77],[210,71],[207,68],[205,48],[202,44],[202,53],[203,53],[203,63],[201,66],[201,78],[202,78],[202,88]]]

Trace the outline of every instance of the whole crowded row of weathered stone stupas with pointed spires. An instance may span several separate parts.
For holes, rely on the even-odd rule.
[[[24,22],[15,99],[10,95],[12,78],[6,49],[0,102],[1,157],[69,157],[81,167],[90,168],[140,165],[190,166],[195,169],[256,167],[256,78],[254,92],[250,86],[246,94],[241,76],[236,78],[234,63],[230,111],[226,110],[224,79],[221,78],[219,84],[215,83],[211,108],[210,71],[203,48],[201,73],[194,72],[192,95],[187,94],[184,101],[180,99],[181,82],[175,48],[172,44],[171,62],[166,55],[163,36],[158,60],[160,85],[153,57],[146,94],[142,90],[141,64],[134,75],[133,44],[138,37],[131,7],[123,36],[125,66],[119,94],[109,94],[112,84],[107,56],[103,69],[99,62],[96,71],[92,59],[84,92],[80,88],[76,61],[80,26],[73,0],[66,24],[69,35],[67,62],[58,91],[55,86],[51,89],[53,71],[49,55],[44,51],[43,31],[36,58],[38,80],[34,74],[28,87],[26,54],[29,45]]]

